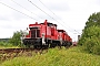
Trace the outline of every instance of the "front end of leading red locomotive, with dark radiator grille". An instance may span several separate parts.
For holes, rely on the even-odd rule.
[[[24,45],[33,45],[33,47],[40,47],[44,43],[44,33],[42,33],[43,24],[29,24],[29,34],[24,37],[23,44]]]

